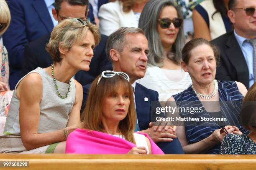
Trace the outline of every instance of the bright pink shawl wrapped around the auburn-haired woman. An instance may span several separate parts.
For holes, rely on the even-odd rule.
[[[152,154],[164,154],[163,151],[145,133],[151,143]],[[107,133],[87,129],[77,129],[69,134],[66,153],[72,154],[127,154],[135,147],[131,142]]]

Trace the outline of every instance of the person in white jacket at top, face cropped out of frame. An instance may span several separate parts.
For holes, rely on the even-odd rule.
[[[138,21],[148,0],[115,0],[99,9],[100,33],[110,35],[121,27],[138,28]]]

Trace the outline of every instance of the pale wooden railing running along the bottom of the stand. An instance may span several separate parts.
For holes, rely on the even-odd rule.
[[[0,154],[0,161],[29,163],[0,170],[256,170],[256,155]]]

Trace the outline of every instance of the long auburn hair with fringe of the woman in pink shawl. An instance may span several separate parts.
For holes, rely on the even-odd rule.
[[[125,140],[135,144],[133,136],[136,122],[136,111],[133,99],[133,89],[130,83],[124,77],[115,75],[110,78],[101,77],[97,85],[100,75],[92,82],[89,95],[85,105],[84,112],[82,113],[83,128],[103,132],[105,130],[102,124],[103,117],[103,103],[109,94],[116,92],[118,88],[123,88],[129,93],[130,105],[128,113],[123,120],[120,120],[118,128],[124,135]]]

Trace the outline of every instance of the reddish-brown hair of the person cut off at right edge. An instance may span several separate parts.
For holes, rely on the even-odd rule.
[[[243,98],[241,120],[244,128],[256,131],[256,83],[249,88]]]

